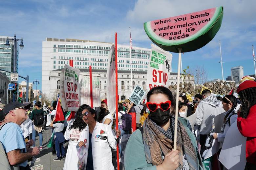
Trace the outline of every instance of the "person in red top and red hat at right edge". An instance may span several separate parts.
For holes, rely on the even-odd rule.
[[[256,169],[256,82],[253,77],[244,77],[237,89],[242,101],[237,127],[246,139],[245,169]]]

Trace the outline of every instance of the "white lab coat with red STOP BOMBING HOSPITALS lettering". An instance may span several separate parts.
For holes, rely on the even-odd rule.
[[[66,159],[64,163],[63,170],[77,170],[77,149],[76,145],[80,142],[80,133],[79,128],[69,130],[69,127],[73,124],[73,121],[70,120],[67,130],[64,134],[66,140],[69,140],[69,146],[66,154]]]

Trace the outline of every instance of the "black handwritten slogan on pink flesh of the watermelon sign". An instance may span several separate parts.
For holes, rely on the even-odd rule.
[[[159,33],[159,37],[166,38],[168,36],[169,40],[177,40],[177,39],[183,39],[186,37],[189,37],[191,34],[193,34],[193,31],[195,31],[195,27],[200,26],[202,23],[207,23],[211,21],[211,18],[208,17],[209,13],[204,12],[200,14],[190,14],[189,16],[183,16],[183,17],[177,17],[172,19],[166,19],[166,20],[159,20],[155,21],[155,25],[165,24],[165,23],[171,23],[172,25],[164,25],[162,27],[158,27],[157,29],[154,29],[154,32],[163,31],[163,30],[170,30],[170,32],[164,32]],[[196,20],[196,21],[194,21]],[[177,23],[176,25],[173,23]],[[181,29],[185,28],[185,29]]]

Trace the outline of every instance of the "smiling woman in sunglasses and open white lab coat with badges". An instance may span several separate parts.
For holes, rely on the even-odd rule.
[[[120,130],[114,137],[110,126],[96,121],[96,111],[92,108],[84,109],[82,116],[87,126],[80,133],[78,146],[86,147],[84,170],[114,170],[111,147],[117,148]]]

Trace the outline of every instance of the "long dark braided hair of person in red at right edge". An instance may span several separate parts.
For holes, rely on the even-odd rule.
[[[246,88],[238,94],[242,101],[240,116],[246,118],[251,107],[256,104],[256,87]]]

